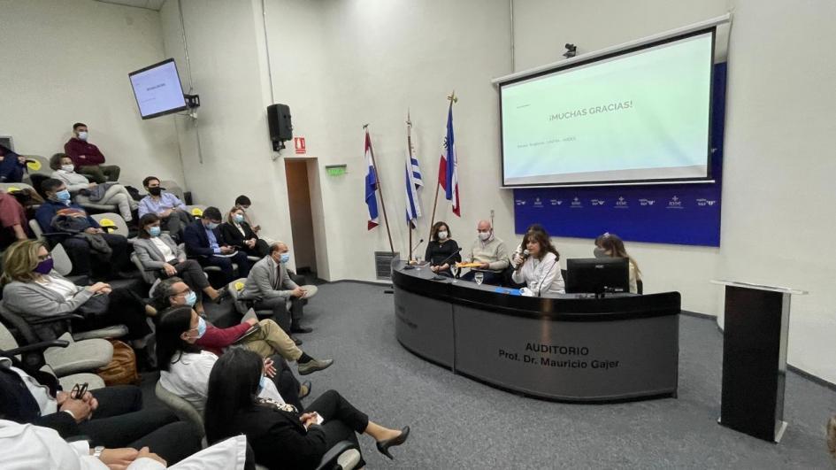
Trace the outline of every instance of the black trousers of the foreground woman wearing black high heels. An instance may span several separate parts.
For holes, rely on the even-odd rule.
[[[328,449],[340,441],[349,441],[357,445],[357,433],[363,433],[369,426],[369,417],[336,390],[328,390],[311,403],[305,412],[318,412],[325,422],[322,423],[322,430],[326,435],[326,446]]]

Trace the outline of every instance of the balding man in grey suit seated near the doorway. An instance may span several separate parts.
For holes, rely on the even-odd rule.
[[[239,301],[255,310],[272,310],[276,323],[288,333],[310,333],[301,325],[303,299],[315,293],[315,286],[300,287],[288,275],[288,245],[276,242],[270,252],[249,271]]]

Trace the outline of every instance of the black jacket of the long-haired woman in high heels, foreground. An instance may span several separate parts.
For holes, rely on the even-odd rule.
[[[247,435],[257,464],[271,470],[316,468],[328,450],[326,435],[319,426],[305,431],[299,416],[295,412],[253,405],[235,416],[227,435]]]

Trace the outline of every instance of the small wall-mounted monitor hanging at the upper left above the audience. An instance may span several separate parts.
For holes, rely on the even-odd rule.
[[[180,74],[177,73],[173,58],[128,73],[128,77],[142,119],[187,109]]]

